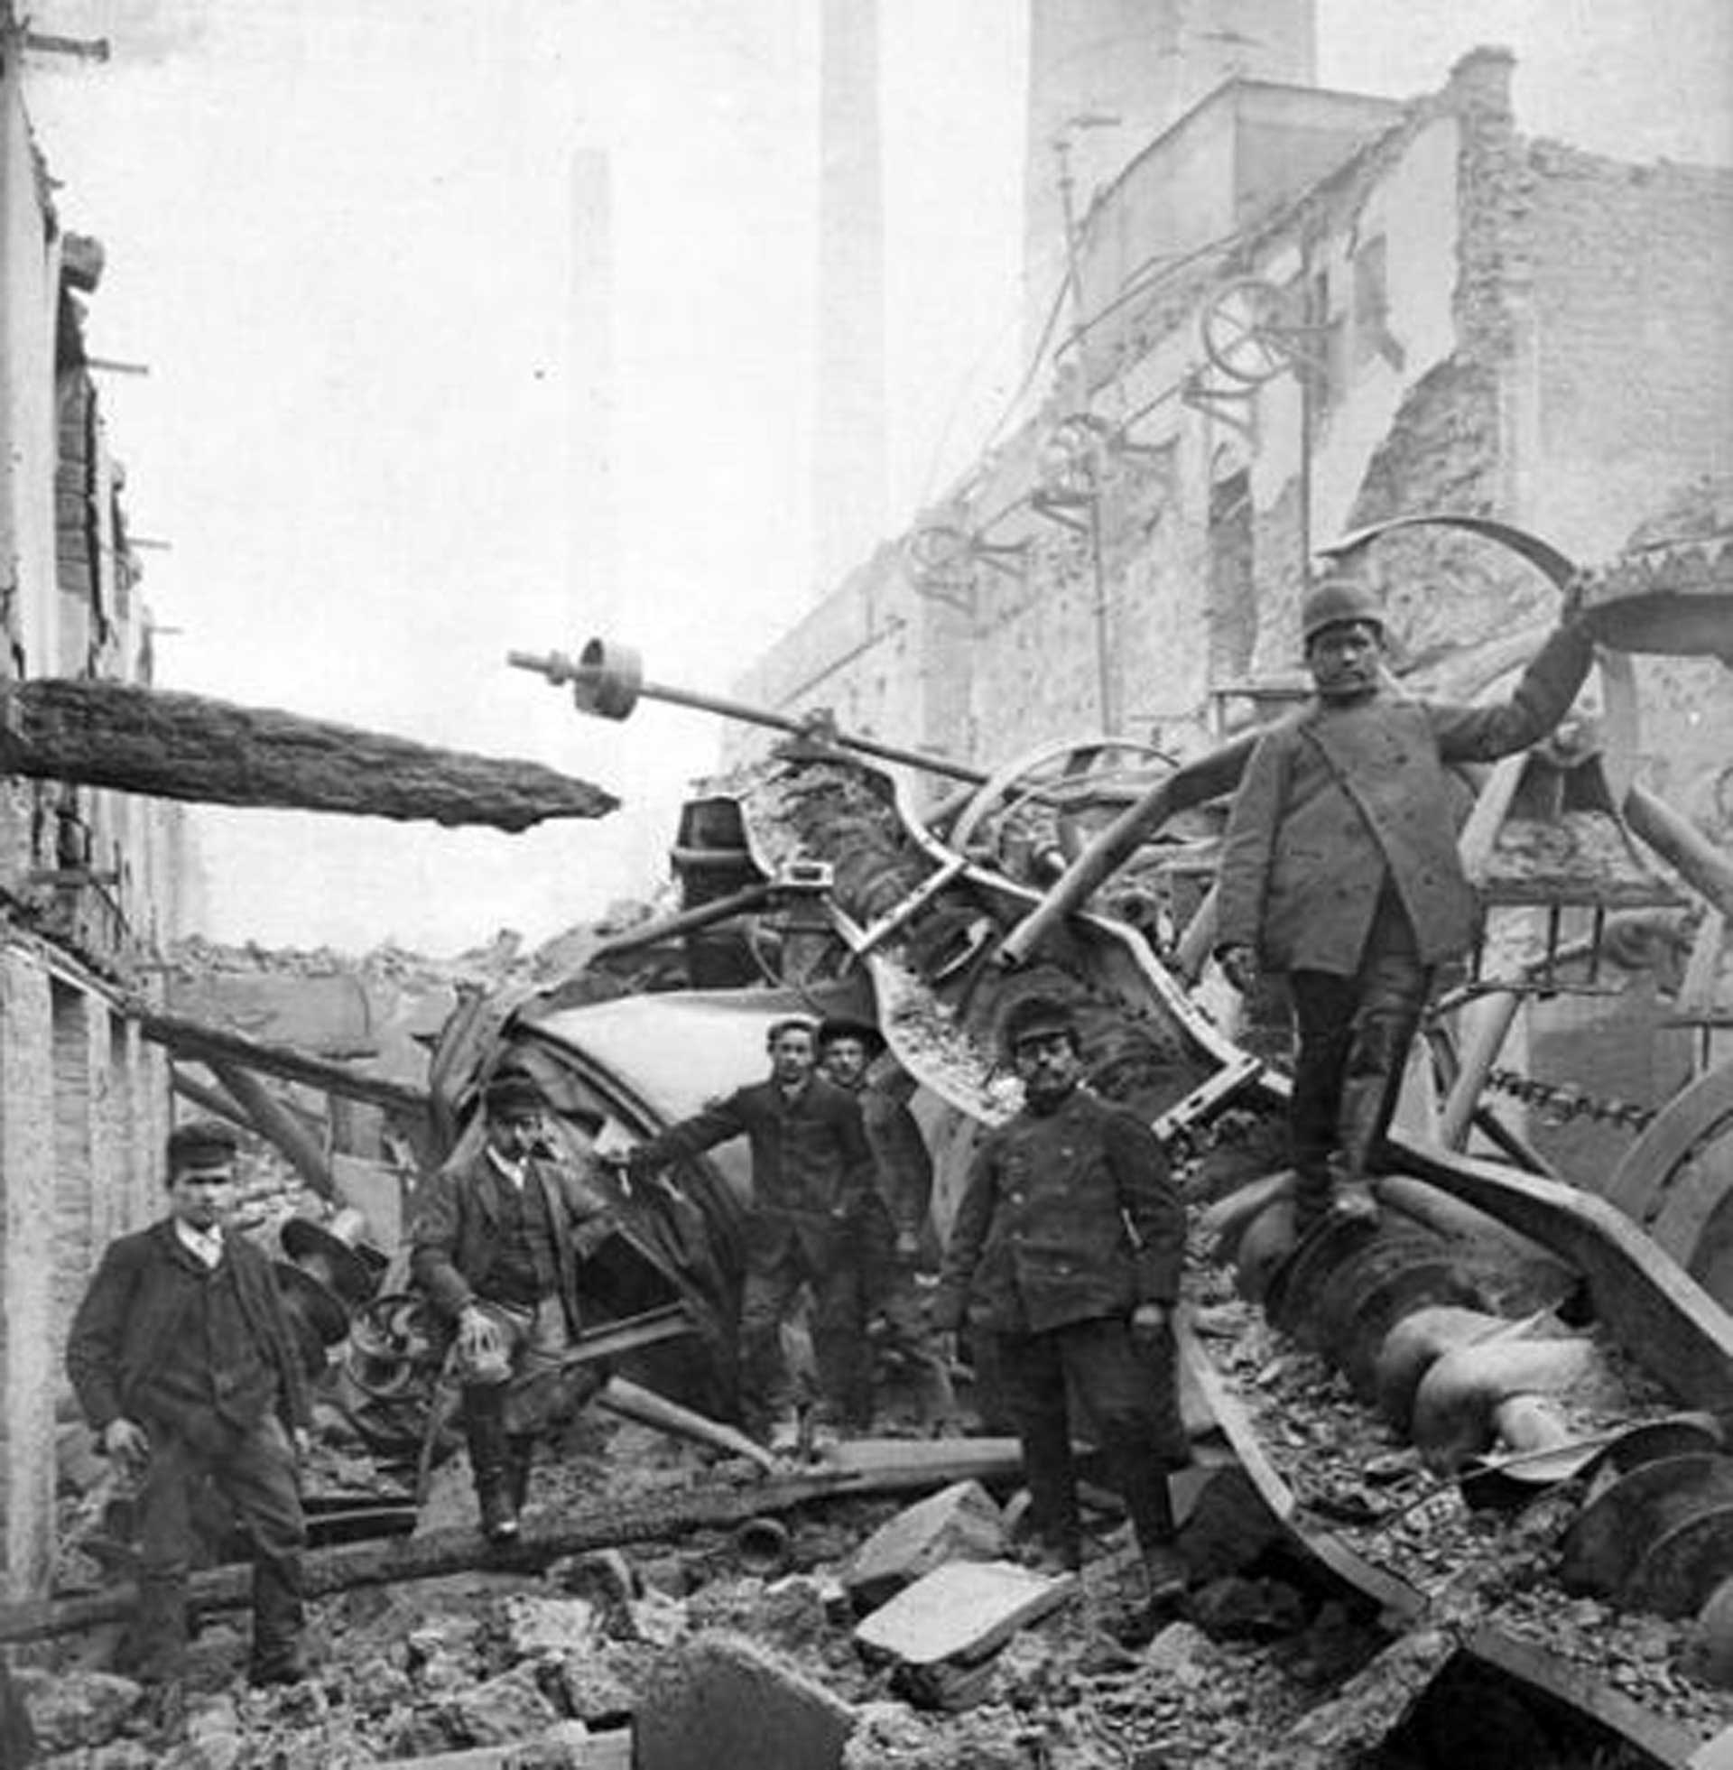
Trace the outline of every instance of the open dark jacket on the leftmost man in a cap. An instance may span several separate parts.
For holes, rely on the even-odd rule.
[[[276,1412],[290,1428],[306,1427],[312,1420],[306,1374],[271,1260],[227,1230],[223,1258],[232,1262],[235,1297],[253,1342],[274,1372]],[[110,1243],[65,1343],[65,1370],[92,1430],[101,1434],[115,1420],[143,1421],[152,1412],[150,1379],[163,1368],[205,1283],[205,1267],[182,1244],[172,1218]]]

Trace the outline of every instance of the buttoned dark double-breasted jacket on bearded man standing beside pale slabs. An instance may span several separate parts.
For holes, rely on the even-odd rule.
[[[935,1297],[998,1333],[1046,1333],[1179,1296],[1186,1212],[1154,1133],[1073,1089],[990,1131],[968,1179]]]

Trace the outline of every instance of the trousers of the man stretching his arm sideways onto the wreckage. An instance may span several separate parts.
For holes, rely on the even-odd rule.
[[[821,1262],[809,1260],[793,1244],[775,1266],[749,1264],[740,1296],[740,1405],[754,1432],[795,1405],[782,1322],[802,1285],[813,1287],[813,1356],[821,1412],[853,1427],[873,1411],[860,1264],[846,1250]]]

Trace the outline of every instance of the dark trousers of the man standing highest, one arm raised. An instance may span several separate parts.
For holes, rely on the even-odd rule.
[[[1329,1202],[1331,1152],[1340,1154],[1344,1179],[1363,1181],[1370,1172],[1432,989],[1432,970],[1420,963],[1407,924],[1388,931],[1383,924],[1352,977],[1289,977],[1298,1034],[1289,1133],[1301,1218]]]

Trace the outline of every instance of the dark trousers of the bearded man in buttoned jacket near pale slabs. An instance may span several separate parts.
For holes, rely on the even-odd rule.
[[[1151,1361],[1138,1356],[1126,1320],[1105,1315],[995,1338],[1005,1407],[1023,1443],[1030,1524],[1041,1540],[1066,1556],[1080,1554],[1083,1543],[1066,1407],[1069,1382],[1101,1435],[1108,1480],[1126,1503],[1138,1547],[1149,1554],[1172,1542],[1159,1397],[1151,1393]],[[1172,1342],[1163,1370],[1172,1384]]]

